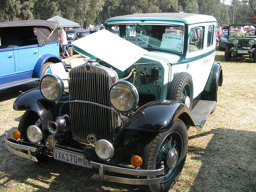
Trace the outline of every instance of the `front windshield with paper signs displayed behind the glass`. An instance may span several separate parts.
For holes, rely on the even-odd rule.
[[[184,26],[181,25],[112,25],[110,31],[144,49],[183,53]]]

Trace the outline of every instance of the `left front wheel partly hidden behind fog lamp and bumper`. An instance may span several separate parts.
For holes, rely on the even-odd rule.
[[[40,129],[42,129],[41,125],[41,120],[39,115],[36,112],[33,111],[26,111],[24,115],[22,116],[22,119],[20,119],[20,122],[18,124],[18,131],[20,132],[20,139],[23,139],[25,142],[30,142],[28,137],[27,137],[27,129],[30,125],[36,125]],[[42,139],[42,144],[45,144],[44,138]],[[23,150],[24,153],[27,153],[26,150]],[[33,154],[32,154],[33,155]],[[45,162],[50,159],[51,157],[41,153],[34,155],[38,162]]]

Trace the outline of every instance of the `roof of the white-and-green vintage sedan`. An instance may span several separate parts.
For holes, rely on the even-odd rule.
[[[127,20],[127,22],[132,20],[170,20],[183,22],[184,24],[217,22],[213,16],[194,13],[139,13],[112,17],[106,19],[105,24],[118,20]]]

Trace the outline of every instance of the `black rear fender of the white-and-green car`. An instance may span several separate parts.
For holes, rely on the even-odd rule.
[[[222,86],[222,81],[222,67],[220,63],[214,63],[211,68],[211,72],[206,82],[205,88],[202,92],[201,99],[217,102],[218,87]]]

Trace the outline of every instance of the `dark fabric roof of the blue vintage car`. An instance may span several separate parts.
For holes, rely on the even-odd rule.
[[[14,20],[11,22],[0,23],[0,28],[24,27],[24,26],[44,26],[44,27],[49,27],[53,30],[56,30],[58,28],[58,22],[50,22],[48,20],[34,19],[34,20]]]

